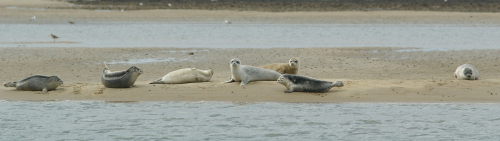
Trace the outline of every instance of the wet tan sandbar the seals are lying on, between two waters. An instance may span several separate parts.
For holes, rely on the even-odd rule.
[[[494,57],[500,54],[500,49],[398,51],[399,49],[404,48],[5,47],[0,48],[5,52],[0,63],[8,67],[0,69],[0,73],[4,74],[0,76],[1,82],[16,81],[32,74],[45,74],[58,75],[64,84],[47,93],[2,86],[0,99],[320,103],[500,101],[500,77],[496,75],[498,70],[495,65],[498,63],[497,57]],[[193,55],[176,53],[191,50],[195,50]],[[239,82],[220,83],[230,76],[228,63],[225,61],[231,58],[239,58],[243,65],[259,66],[285,62],[290,57],[281,54],[294,54],[299,57],[300,75],[329,81],[340,80],[344,82],[344,86],[331,88],[325,93],[283,93],[286,88],[275,81],[251,81],[245,86],[239,86]],[[256,57],[259,55],[269,57]],[[166,56],[179,61],[108,65],[111,71],[124,70],[131,65],[141,68],[144,73],[138,77],[135,87],[107,88],[100,83],[102,61]],[[413,59],[401,59],[398,56]],[[474,59],[477,57],[481,59]],[[480,78],[454,78],[454,69],[462,63],[473,64],[479,70]],[[188,67],[212,69],[214,74],[209,82],[147,84],[170,71]]]

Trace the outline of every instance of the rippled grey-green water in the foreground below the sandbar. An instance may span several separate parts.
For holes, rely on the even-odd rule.
[[[474,103],[0,101],[0,140],[497,140]]]

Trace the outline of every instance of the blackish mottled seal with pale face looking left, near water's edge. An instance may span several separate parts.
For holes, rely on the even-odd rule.
[[[308,76],[293,74],[282,74],[278,78],[277,82],[288,88],[288,90],[283,90],[285,93],[293,91],[326,92],[333,86],[343,86],[342,81],[325,81]]]

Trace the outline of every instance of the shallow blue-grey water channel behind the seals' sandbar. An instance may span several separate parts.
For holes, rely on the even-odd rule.
[[[345,47],[498,49],[490,24],[256,24],[212,22],[78,22],[0,24],[0,47]],[[50,43],[56,41],[81,43]]]

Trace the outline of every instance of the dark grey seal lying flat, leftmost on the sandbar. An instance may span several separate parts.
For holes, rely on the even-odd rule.
[[[31,75],[22,80],[5,82],[3,86],[15,87],[19,90],[41,90],[41,92],[47,92],[48,90],[55,89],[62,83],[63,81],[56,75]]]

